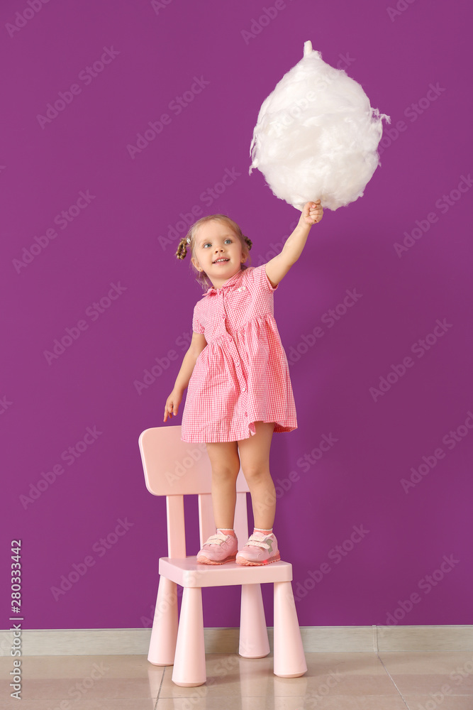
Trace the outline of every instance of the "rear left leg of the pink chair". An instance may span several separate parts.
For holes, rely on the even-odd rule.
[[[154,665],[174,663],[177,621],[177,585],[166,577],[160,577],[148,652],[150,663]]]

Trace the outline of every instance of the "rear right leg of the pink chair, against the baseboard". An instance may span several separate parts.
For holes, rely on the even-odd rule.
[[[263,658],[269,653],[261,584],[242,584],[240,611],[240,656]]]

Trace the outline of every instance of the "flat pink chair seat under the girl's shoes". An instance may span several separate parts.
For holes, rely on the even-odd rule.
[[[160,575],[184,587],[230,586],[232,584],[264,584],[292,581],[290,562],[242,565],[201,564],[196,555],[191,557],[160,557]]]

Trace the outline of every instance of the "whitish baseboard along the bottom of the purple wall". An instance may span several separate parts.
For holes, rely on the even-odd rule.
[[[238,628],[204,629],[206,653],[238,653]],[[273,650],[273,630],[268,628]],[[26,629],[22,656],[148,655],[150,628]],[[311,651],[473,650],[473,626],[301,626]],[[9,656],[13,632],[0,631],[0,656]]]

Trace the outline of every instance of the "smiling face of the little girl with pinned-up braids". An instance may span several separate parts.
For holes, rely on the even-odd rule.
[[[238,236],[226,222],[213,220],[202,224],[196,234],[195,258],[192,263],[204,269],[216,288],[219,288],[247,259]]]

